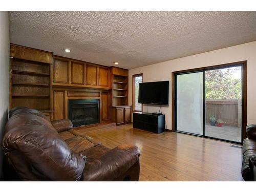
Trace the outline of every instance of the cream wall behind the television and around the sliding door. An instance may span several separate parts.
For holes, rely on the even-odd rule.
[[[167,129],[172,129],[172,93],[171,76],[173,71],[194,69],[199,67],[221,65],[230,62],[247,60],[247,123],[256,124],[256,41],[232,46],[197,55],[168,60],[154,65],[129,70],[129,104],[132,104],[132,75],[143,73],[143,82],[169,80],[169,106],[162,107]],[[150,105],[148,112],[158,112],[159,106]],[[147,106],[143,107],[147,112]]]

